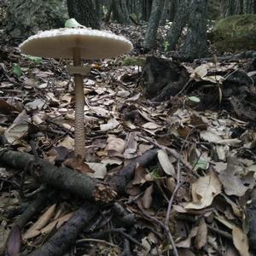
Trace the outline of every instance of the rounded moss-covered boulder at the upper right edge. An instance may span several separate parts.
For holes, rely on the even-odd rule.
[[[256,15],[233,15],[218,20],[212,38],[220,50],[255,50]]]

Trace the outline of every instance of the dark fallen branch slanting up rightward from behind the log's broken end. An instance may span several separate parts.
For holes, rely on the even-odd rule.
[[[118,193],[125,193],[126,184],[131,181],[137,165],[148,166],[148,164],[155,159],[157,149],[146,151],[143,155],[137,157],[135,160],[125,166],[120,172],[114,173],[112,177],[108,177],[108,184]]]

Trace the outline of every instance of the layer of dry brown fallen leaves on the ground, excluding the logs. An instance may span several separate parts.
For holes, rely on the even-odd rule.
[[[129,32],[129,28],[119,26],[112,29]],[[130,33],[128,37],[135,43],[139,32]],[[138,166],[127,185],[127,195],[119,198],[122,207],[137,218],[132,236],[144,249],[131,242],[134,255],[167,255],[172,245],[160,225],[166,222],[179,255],[249,255],[244,209],[247,192],[255,184],[256,135],[247,122],[224,111],[196,112],[189,108],[188,96],[148,102],[137,84],[142,67],[122,67],[123,56],[92,61],[90,75],[84,78],[88,168],[70,158],[74,147],[74,95],[73,78],[65,69],[67,62],[43,60],[35,64],[20,55],[18,48],[2,46],[1,147],[32,154],[29,142],[33,140],[40,157],[102,180],[108,172],[118,170],[148,149],[159,148],[154,166]],[[14,74],[15,63],[21,67],[20,76]],[[216,65],[185,66],[192,80],[218,85],[224,78],[207,76],[211,68],[222,68],[227,73],[237,68],[236,62]],[[26,177],[25,198],[21,200],[21,175],[19,170],[0,168],[1,242],[15,222],[15,215],[8,217],[7,213],[31,201],[39,187]],[[58,229],[72,216],[77,205],[62,193],[58,202],[49,203],[22,230],[24,248],[39,246],[53,228]],[[112,213],[104,214],[105,227],[111,226]],[[118,255],[123,247],[119,237],[112,235],[109,242],[87,244],[98,247],[96,255]],[[76,247],[91,253],[88,246],[83,248],[78,243]]]

